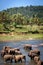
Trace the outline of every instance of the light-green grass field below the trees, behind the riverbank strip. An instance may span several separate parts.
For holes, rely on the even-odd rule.
[[[17,26],[17,28],[14,29],[15,32],[39,32],[39,33],[43,33],[43,26],[38,26],[38,25],[22,25],[21,28],[19,27],[19,25]]]

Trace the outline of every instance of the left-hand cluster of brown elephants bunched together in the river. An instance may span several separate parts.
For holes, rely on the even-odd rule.
[[[12,62],[13,60],[15,63],[22,62],[22,60],[26,61],[26,56],[21,53],[19,48],[11,48],[9,46],[3,47],[1,57],[3,57],[5,62]]]

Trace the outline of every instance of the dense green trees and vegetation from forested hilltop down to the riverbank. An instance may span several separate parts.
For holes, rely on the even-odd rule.
[[[0,11],[0,33],[43,33],[43,6]]]

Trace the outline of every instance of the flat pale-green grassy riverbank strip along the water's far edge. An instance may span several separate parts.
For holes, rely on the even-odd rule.
[[[0,41],[21,41],[43,39],[43,34],[0,34]]]

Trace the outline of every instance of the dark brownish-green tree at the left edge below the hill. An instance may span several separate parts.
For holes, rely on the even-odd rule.
[[[7,12],[0,13],[0,24],[4,26],[4,30],[8,30],[8,25],[10,24],[10,20]]]

